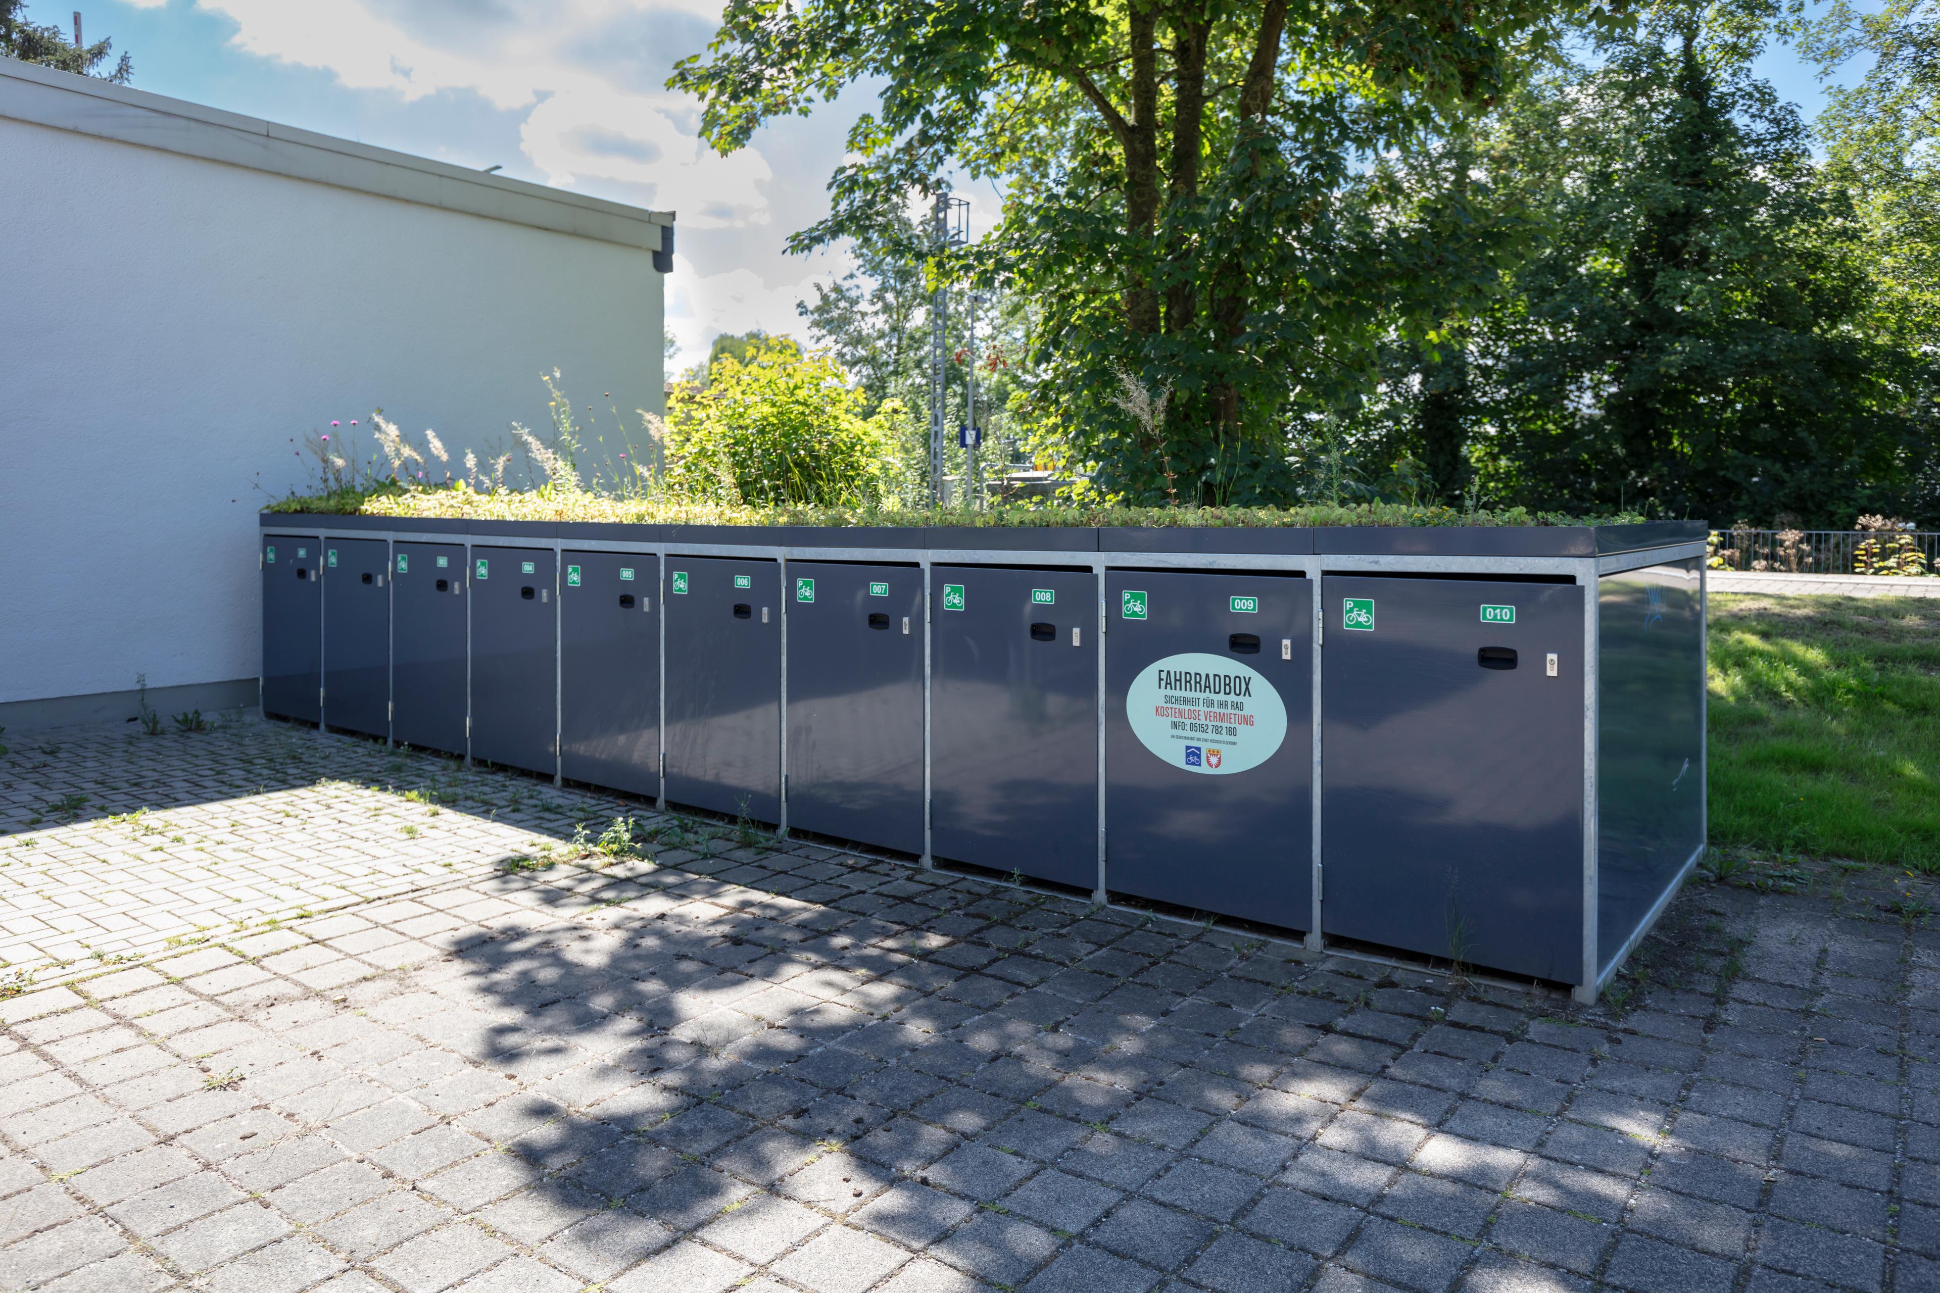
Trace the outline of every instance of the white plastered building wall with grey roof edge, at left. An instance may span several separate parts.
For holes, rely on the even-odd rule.
[[[0,174],[0,725],[254,704],[256,518],[332,419],[462,473],[555,366],[609,454],[662,407],[671,213],[12,60]]]

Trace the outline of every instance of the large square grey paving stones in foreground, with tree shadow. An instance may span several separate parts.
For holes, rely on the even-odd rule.
[[[642,810],[0,1000],[0,1289],[1940,1289],[1930,898],[1699,882],[1579,1010]]]

